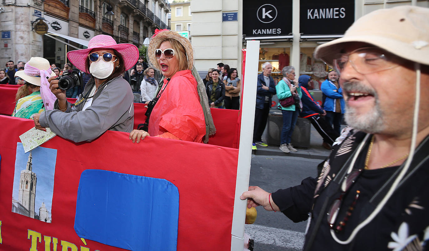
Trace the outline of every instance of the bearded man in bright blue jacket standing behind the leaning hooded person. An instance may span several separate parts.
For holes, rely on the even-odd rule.
[[[326,96],[323,101],[323,108],[326,111],[326,122],[330,126],[334,125],[334,130],[340,134],[341,121],[344,114],[343,91],[338,84],[338,73],[335,70],[329,70],[328,79],[320,85],[322,93]]]

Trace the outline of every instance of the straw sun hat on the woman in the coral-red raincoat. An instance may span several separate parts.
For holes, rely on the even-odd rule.
[[[193,48],[190,44],[189,40],[183,36],[180,36],[179,33],[177,33],[174,30],[155,30],[155,34],[151,37],[151,42],[149,43],[148,47],[148,58],[149,58],[149,64],[155,68],[157,67],[157,58],[155,57],[155,50],[160,47],[160,44],[165,39],[175,39],[177,40],[186,51],[186,56],[188,60],[188,70],[192,70],[193,67]],[[159,70],[159,69],[158,69]]]

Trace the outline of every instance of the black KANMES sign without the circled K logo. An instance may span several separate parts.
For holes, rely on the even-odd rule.
[[[354,0],[301,0],[302,35],[344,34],[354,21]]]

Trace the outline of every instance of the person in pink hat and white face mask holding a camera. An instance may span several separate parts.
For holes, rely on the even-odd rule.
[[[73,105],[67,102],[66,91],[58,88],[58,80],[51,78],[51,91],[57,97],[55,110],[35,115],[35,127],[49,127],[74,142],[93,140],[107,130],[132,131],[134,96],[121,74],[136,63],[137,47],[116,44],[111,36],[97,35],[87,49],[69,51],[67,57],[77,69],[91,73],[92,77]]]

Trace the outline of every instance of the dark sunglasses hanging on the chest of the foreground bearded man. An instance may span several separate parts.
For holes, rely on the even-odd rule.
[[[328,211],[328,224],[329,224],[329,227],[330,227],[330,229],[335,230],[337,233],[344,229],[344,226],[346,225],[348,219],[350,218],[350,216],[351,216],[351,214],[352,214],[352,212],[354,210],[354,206],[356,205],[356,200],[359,198],[360,191],[356,190],[356,196],[354,197],[353,202],[351,203],[351,205],[348,207],[346,215],[344,216],[344,219],[342,221],[340,221],[335,226],[335,221],[337,219],[338,212],[340,211],[343,199],[344,199],[347,191],[350,189],[350,187],[354,184],[354,182],[356,181],[356,179],[360,175],[360,173],[362,173],[362,169],[353,171],[353,172],[349,173],[344,178],[344,180],[343,180],[343,182],[341,184],[341,195],[340,195],[340,197],[338,197],[337,199],[334,200],[334,202],[332,203],[331,208]]]

